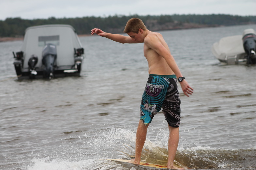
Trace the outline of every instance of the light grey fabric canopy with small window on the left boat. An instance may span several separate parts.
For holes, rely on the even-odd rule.
[[[24,52],[24,68],[28,68],[28,60],[32,55],[38,57],[38,66],[42,64],[42,51],[46,44],[56,45],[56,66],[74,65],[74,48],[82,48],[81,42],[70,25],[40,25],[25,30],[22,51]]]

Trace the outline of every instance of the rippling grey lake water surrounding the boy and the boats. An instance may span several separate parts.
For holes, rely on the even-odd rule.
[[[161,31],[194,94],[180,90],[182,119],[175,160],[193,169],[256,169],[256,66],[223,65],[211,46],[256,25]],[[0,43],[0,169],[141,170],[105,160],[131,159],[148,79],[143,44],[93,35],[81,77],[17,80],[12,51]],[[180,87],[180,86],[179,86]],[[180,88],[181,89],[181,88]],[[167,162],[162,112],[148,129],[142,160]]]

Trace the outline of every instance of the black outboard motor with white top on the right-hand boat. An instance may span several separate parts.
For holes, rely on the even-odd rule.
[[[256,33],[253,29],[244,30],[243,46],[247,54],[247,64],[256,64]]]

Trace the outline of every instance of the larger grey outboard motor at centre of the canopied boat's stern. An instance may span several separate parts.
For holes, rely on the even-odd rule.
[[[54,64],[57,58],[56,46],[53,44],[47,44],[43,48],[42,52],[42,64],[45,66],[44,77],[53,78]]]

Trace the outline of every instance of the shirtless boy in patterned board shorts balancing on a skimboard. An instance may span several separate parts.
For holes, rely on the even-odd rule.
[[[144,43],[144,56],[148,61],[149,80],[146,84],[140,106],[140,120],[136,132],[135,159],[131,163],[140,163],[141,152],[147,136],[147,128],[154,115],[163,108],[169,127],[168,163],[171,169],[180,169],[173,165],[179,143],[180,98],[177,79],[184,94],[192,95],[193,88],[189,86],[180,72],[169,47],[160,33],[149,31],[142,20],[128,20],[124,32],[129,36],[105,33],[94,28],[94,33],[119,43]]]

